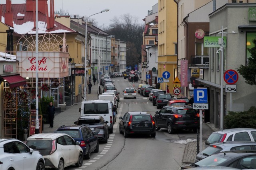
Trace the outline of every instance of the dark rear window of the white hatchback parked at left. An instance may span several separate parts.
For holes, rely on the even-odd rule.
[[[38,150],[43,156],[49,155],[52,150],[51,140],[28,140],[26,145],[34,150]]]

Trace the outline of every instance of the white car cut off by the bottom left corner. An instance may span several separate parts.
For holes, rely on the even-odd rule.
[[[44,170],[44,157],[18,139],[0,139],[0,170]]]

